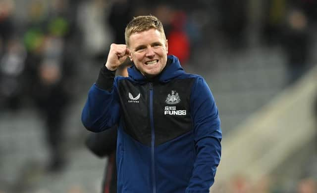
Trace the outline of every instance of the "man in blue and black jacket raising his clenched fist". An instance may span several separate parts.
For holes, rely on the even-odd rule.
[[[118,124],[118,193],[209,193],[221,154],[218,111],[205,80],[186,74],[154,16],[127,25],[91,87],[82,122],[99,132]],[[129,57],[129,77],[114,78]]]

